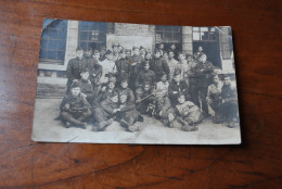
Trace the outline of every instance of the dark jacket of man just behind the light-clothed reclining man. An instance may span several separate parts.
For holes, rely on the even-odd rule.
[[[187,83],[181,80],[179,84],[177,84],[175,80],[172,80],[168,86],[168,97],[172,106],[178,103],[179,92],[182,92],[185,96],[185,99],[190,100],[191,97]]]

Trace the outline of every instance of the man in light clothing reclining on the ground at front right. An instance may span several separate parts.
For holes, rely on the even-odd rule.
[[[178,104],[176,105],[176,112],[174,115],[169,113],[169,122],[174,121],[179,122],[185,131],[195,131],[197,130],[196,125],[201,123],[203,115],[198,106],[196,106],[191,101],[185,101],[185,96],[183,93],[178,94]],[[170,124],[172,127],[174,124]]]

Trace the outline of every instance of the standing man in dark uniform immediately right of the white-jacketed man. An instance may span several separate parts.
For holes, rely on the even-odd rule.
[[[129,64],[129,60],[126,56],[126,51],[121,50],[119,53],[119,60],[116,61],[116,70],[117,70],[117,86],[120,84],[120,78],[123,75],[130,75],[131,65]]]

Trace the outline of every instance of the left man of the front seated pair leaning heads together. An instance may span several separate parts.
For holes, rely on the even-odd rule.
[[[101,106],[93,110],[94,127],[92,131],[102,131],[110,126],[119,111],[118,92],[113,91],[106,99],[101,102]]]

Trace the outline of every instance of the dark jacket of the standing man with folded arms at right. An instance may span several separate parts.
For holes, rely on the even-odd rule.
[[[211,81],[211,73],[214,72],[214,66],[210,62],[205,63],[198,62],[195,66],[195,76],[197,87],[208,87]]]

